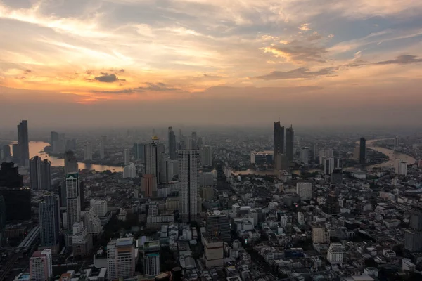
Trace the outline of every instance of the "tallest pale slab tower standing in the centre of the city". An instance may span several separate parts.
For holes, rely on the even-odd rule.
[[[185,221],[195,221],[199,214],[199,150],[179,150],[178,155],[181,216]]]

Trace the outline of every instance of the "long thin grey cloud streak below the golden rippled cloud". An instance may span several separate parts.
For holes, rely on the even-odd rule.
[[[273,71],[269,74],[251,77],[259,80],[281,80],[281,79],[310,79],[315,77],[333,76],[338,67],[325,67],[321,70],[311,71],[307,67],[299,67],[290,71]]]

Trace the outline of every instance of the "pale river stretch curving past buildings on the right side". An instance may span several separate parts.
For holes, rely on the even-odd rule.
[[[376,150],[376,151],[381,152],[381,153],[383,153],[383,154],[385,154],[389,157],[387,162],[367,166],[366,167],[367,170],[370,170],[370,169],[373,169],[373,168],[394,166],[396,159],[400,159],[403,162],[406,162],[407,164],[414,164],[414,162],[416,162],[416,159],[414,159],[414,157],[411,157],[409,155],[399,153],[399,152],[395,152],[394,150],[389,150],[388,148],[381,148],[379,146],[372,145],[376,141],[383,141],[383,140],[387,140],[387,139],[388,138],[366,141],[366,148],[371,148],[371,150]],[[359,144],[359,141],[357,141],[357,144]],[[352,168],[350,168],[350,169],[352,169]],[[311,169],[307,172],[313,173],[314,171],[321,171],[321,170]],[[257,176],[269,176],[269,175],[275,175],[276,174],[275,171],[256,171],[255,169],[247,169],[245,171],[232,171],[232,173],[235,176],[237,176],[237,175],[248,175],[248,174],[257,175]],[[299,170],[294,170],[294,171],[292,171],[292,173],[300,175]]]

